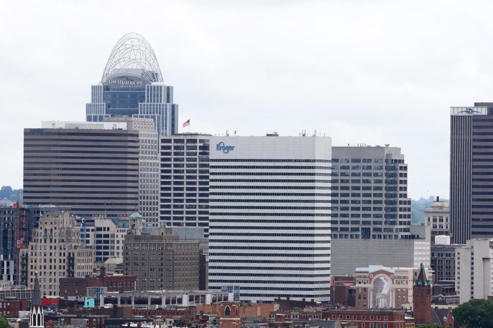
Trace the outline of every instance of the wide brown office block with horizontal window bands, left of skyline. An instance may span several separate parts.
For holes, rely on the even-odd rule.
[[[125,122],[43,122],[24,129],[24,203],[79,216],[139,207],[139,133]]]

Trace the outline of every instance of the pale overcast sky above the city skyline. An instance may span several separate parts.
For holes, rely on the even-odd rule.
[[[0,0],[0,186],[23,128],[84,120],[126,33],[154,48],[191,131],[401,147],[413,198],[448,198],[449,107],[493,100],[492,2]]]

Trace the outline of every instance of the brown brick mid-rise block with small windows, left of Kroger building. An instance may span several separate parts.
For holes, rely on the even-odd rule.
[[[136,290],[198,290],[199,243],[178,240],[172,229],[126,235],[123,273],[137,276]]]

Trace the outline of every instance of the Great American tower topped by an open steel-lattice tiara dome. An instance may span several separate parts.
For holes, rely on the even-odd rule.
[[[137,33],[125,34],[109,55],[101,82],[91,87],[86,120],[107,117],[151,118],[159,135],[178,132],[178,105],[163,76],[153,48]]]

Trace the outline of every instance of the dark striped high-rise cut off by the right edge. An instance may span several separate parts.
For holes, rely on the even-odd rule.
[[[450,107],[450,234],[493,237],[493,103]]]

